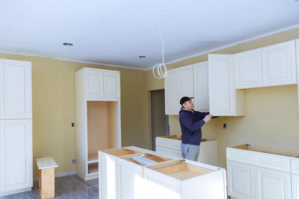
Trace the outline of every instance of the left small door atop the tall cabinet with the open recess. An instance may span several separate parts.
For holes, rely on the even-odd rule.
[[[86,97],[104,97],[103,72],[86,70]]]

